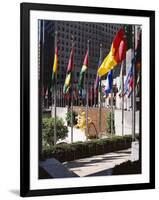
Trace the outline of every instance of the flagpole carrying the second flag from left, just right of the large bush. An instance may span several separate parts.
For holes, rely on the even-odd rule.
[[[72,49],[74,48],[74,37],[72,35]],[[74,67],[74,63],[73,63]],[[74,76],[73,76],[73,70],[72,70],[72,79],[71,79],[71,143],[73,142],[73,82],[74,82]]]

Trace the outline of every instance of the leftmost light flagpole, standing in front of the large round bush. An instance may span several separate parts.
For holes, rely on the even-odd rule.
[[[56,51],[56,47],[57,47],[57,31],[55,31],[55,43],[54,43],[54,49]],[[55,73],[55,80],[54,80],[54,90],[52,90],[52,97],[54,98],[54,104],[52,104],[52,106],[54,105],[54,145],[56,145],[56,141],[57,141],[57,127],[56,127],[56,123],[57,123],[57,119],[56,119],[56,93],[57,93],[57,72]]]

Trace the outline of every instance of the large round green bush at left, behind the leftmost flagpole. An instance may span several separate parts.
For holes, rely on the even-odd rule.
[[[49,149],[50,146],[54,145],[54,118],[43,118],[42,119],[42,141],[43,149]],[[68,128],[64,125],[64,121],[61,118],[56,118],[56,139],[64,139],[67,136]]]

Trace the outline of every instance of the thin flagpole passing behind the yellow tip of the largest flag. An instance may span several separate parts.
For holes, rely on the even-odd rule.
[[[99,60],[102,60],[102,44],[100,44],[100,50],[99,50]],[[101,134],[101,112],[102,112],[102,103],[101,103],[101,78],[99,79],[99,137]]]

